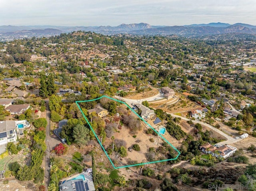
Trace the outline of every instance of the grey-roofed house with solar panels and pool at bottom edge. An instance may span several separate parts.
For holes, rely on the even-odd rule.
[[[60,191],[95,191],[92,169],[76,173],[60,181]]]

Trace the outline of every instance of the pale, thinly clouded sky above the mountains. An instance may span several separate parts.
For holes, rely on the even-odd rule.
[[[255,0],[0,0],[1,25],[256,25]]]

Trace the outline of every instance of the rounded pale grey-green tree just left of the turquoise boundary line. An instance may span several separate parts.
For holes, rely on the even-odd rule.
[[[73,130],[73,138],[76,144],[86,145],[86,143],[90,140],[89,136],[90,130],[86,128],[83,124],[77,124]]]

